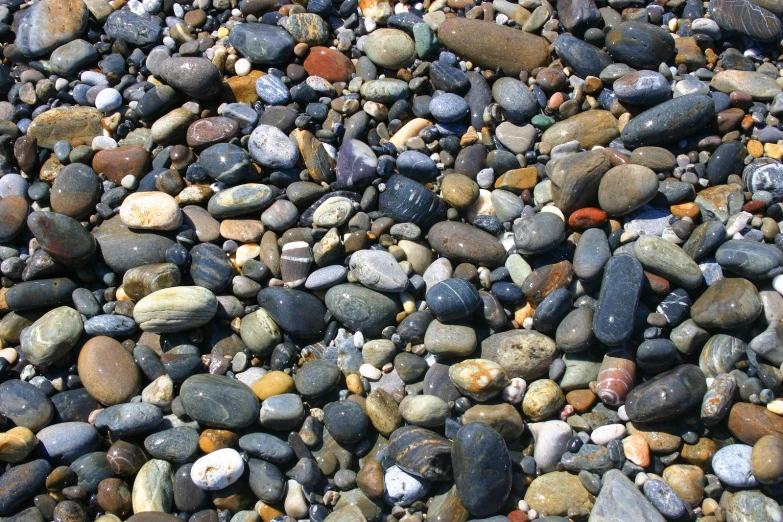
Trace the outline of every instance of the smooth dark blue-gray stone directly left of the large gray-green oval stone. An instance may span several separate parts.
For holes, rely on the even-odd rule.
[[[314,295],[282,287],[264,288],[258,304],[277,325],[291,335],[314,338],[324,333],[326,308]]]

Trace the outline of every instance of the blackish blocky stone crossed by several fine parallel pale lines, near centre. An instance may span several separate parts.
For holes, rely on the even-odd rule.
[[[446,215],[447,205],[424,185],[393,174],[381,192],[378,210],[397,223],[415,223],[427,230]]]

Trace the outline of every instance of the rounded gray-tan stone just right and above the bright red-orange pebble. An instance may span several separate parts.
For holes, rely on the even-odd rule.
[[[658,176],[641,165],[609,169],[598,186],[598,204],[610,216],[625,216],[652,201],[658,194]]]

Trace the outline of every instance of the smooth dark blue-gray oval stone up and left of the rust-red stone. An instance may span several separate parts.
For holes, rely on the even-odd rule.
[[[296,44],[282,27],[258,23],[235,25],[228,39],[242,56],[255,64],[284,64],[291,58]]]

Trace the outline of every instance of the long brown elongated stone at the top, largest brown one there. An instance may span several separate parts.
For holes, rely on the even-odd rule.
[[[500,68],[512,77],[549,62],[546,40],[494,22],[449,18],[440,24],[438,39],[464,59],[486,69]]]

